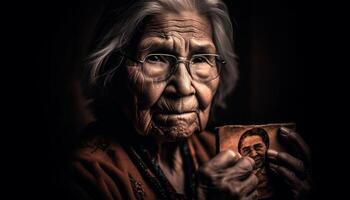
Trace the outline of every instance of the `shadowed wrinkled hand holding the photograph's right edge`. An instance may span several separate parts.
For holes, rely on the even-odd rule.
[[[268,150],[270,169],[282,178],[293,199],[308,199],[311,190],[309,147],[296,132],[284,127],[279,131],[279,138],[293,155]]]

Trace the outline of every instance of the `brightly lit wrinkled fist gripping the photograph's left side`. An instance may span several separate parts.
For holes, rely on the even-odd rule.
[[[223,151],[203,165],[196,176],[197,199],[257,199],[255,162],[231,150]]]

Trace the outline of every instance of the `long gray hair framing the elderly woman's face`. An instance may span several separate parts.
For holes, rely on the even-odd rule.
[[[113,19],[112,25],[97,41],[97,46],[87,59],[84,89],[89,90],[108,86],[117,67],[106,67],[113,52],[125,50],[135,37],[147,17],[183,10],[195,10],[205,15],[211,22],[213,40],[218,54],[226,61],[220,75],[220,84],[212,107],[225,108],[225,98],[231,93],[238,80],[236,55],[233,50],[233,27],[226,5],[220,0],[140,0],[133,3],[123,13]],[[118,61],[121,65],[123,60]],[[98,89],[97,89],[98,90]],[[96,98],[90,95],[91,98]]]

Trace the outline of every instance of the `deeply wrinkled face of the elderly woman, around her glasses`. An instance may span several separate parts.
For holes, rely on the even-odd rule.
[[[188,60],[193,54],[216,53],[210,22],[194,12],[162,14],[150,19],[145,27],[138,44],[138,60],[154,53]],[[195,81],[187,64],[180,62],[177,70],[162,81],[146,77],[142,64],[128,64],[132,101],[127,102],[125,110],[139,134],[176,141],[205,128],[219,77]]]

